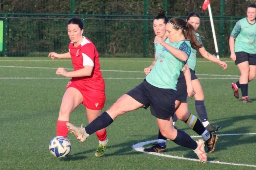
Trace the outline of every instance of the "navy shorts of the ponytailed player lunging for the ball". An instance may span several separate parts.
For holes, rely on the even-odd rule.
[[[174,114],[176,90],[155,87],[144,79],[142,83],[126,94],[145,105],[145,109],[150,106],[151,114],[156,118],[170,120]]]

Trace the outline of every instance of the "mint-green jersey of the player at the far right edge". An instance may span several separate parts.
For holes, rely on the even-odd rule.
[[[256,23],[250,24],[247,18],[239,20],[230,36],[235,38],[235,52],[256,54]]]

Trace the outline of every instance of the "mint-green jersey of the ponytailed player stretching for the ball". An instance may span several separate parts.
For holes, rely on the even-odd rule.
[[[171,43],[167,39],[165,42],[190,56],[191,45],[189,40]],[[154,68],[146,76],[147,82],[158,88],[177,90],[176,84],[185,62],[174,57],[160,43],[155,44],[155,50],[157,61]]]

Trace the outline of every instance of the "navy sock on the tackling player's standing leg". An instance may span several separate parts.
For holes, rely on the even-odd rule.
[[[176,138],[173,140],[174,143],[187,148],[191,148],[193,150],[197,148],[196,141],[194,141],[188,134],[186,134],[184,131],[179,129],[177,129],[177,132],[178,134]]]

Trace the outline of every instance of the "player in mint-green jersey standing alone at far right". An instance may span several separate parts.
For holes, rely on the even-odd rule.
[[[238,90],[241,89],[242,102],[251,103],[248,98],[248,82],[256,76],[256,4],[247,7],[246,15],[246,18],[236,23],[229,37],[230,58],[235,61],[241,73],[231,88],[236,98],[239,98]]]

